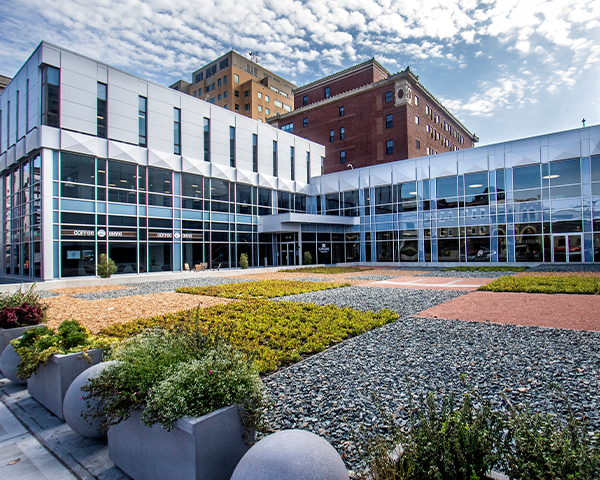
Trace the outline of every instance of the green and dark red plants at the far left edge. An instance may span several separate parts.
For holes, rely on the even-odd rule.
[[[35,291],[35,284],[25,293],[19,288],[12,295],[0,296],[0,328],[38,325],[46,319],[48,306]]]

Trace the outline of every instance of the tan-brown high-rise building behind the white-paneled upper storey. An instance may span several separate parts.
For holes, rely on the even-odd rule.
[[[264,122],[294,109],[296,86],[231,50],[171,88]]]

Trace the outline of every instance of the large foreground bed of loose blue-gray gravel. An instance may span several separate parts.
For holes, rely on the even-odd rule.
[[[405,376],[413,395],[431,392],[439,399],[463,391],[464,373],[494,408],[501,408],[504,393],[536,411],[564,412],[548,390],[554,382],[597,431],[599,351],[598,332],[403,318],[267,377],[274,403],[266,422],[273,430],[301,428],[323,436],[345,455],[350,470],[362,471],[353,432],[361,425],[385,431],[372,393],[406,425]]]

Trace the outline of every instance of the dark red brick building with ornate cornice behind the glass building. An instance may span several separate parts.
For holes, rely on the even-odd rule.
[[[375,59],[294,90],[295,109],[271,125],[325,145],[323,173],[462,150],[479,139],[406,70]]]

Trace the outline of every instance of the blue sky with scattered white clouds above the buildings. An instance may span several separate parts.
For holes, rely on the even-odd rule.
[[[407,66],[479,145],[600,124],[600,0],[0,0],[0,74],[46,40],[170,85],[233,49],[304,85]]]

